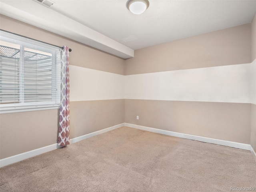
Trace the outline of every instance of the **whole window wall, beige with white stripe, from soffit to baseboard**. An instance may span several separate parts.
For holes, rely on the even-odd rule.
[[[124,60],[0,15],[0,28],[72,48],[70,138],[124,123]],[[58,110],[0,114],[0,159],[56,144]]]

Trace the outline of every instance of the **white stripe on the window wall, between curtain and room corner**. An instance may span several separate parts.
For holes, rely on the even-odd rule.
[[[124,99],[124,76],[70,65],[70,101]]]

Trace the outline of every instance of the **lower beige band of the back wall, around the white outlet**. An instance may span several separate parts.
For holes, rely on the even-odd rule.
[[[125,122],[250,144],[250,110],[241,103],[126,99]]]

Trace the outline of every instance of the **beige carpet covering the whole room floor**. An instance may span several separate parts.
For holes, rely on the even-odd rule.
[[[254,187],[249,151],[128,127],[0,169],[1,192],[218,192]]]

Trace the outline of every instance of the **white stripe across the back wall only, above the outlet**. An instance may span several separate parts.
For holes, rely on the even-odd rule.
[[[125,98],[250,103],[251,64],[125,76]]]

